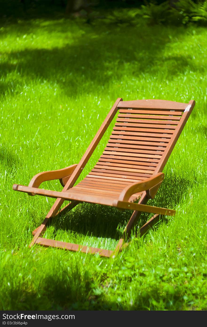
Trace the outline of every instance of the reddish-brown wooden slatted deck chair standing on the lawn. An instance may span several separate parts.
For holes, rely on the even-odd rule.
[[[165,100],[123,101],[118,98],[78,164],[39,173],[32,178],[28,186],[14,184],[15,191],[26,192],[32,196],[57,198],[42,225],[33,232],[34,238],[30,247],[41,244],[45,247],[99,253],[110,257],[122,250],[124,239],[128,237],[141,212],[154,215],[141,227],[140,234],[145,233],[153,222],[159,219],[159,215],[175,215],[174,210],[153,207],[146,203],[149,198],[154,198],[164,179],[164,165],[194,106],[194,100],[187,104]],[[103,154],[91,172],[74,186],[117,111],[119,113],[116,123]],[[55,179],[59,179],[63,186],[61,192],[39,188],[43,181]],[[70,200],[70,203],[60,210],[64,200]],[[137,200],[139,202],[134,203]],[[50,218],[71,210],[80,202],[133,210],[124,236],[115,250],[42,237]]]

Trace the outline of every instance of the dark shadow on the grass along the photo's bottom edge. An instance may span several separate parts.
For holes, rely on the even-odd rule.
[[[127,283],[127,280],[126,280]],[[126,285],[125,285],[126,286]],[[76,273],[65,270],[58,275],[46,275],[37,289],[31,289],[26,282],[14,288],[9,287],[4,296],[4,310],[182,310],[183,290],[180,287],[172,291],[161,291],[160,283],[146,285],[145,290],[136,296],[133,302],[125,298],[122,302],[116,295],[107,296],[102,290],[95,295],[93,276],[85,271]],[[140,293],[140,285],[134,284],[134,292]],[[147,291],[146,291],[147,290]],[[113,292],[112,292],[113,293]],[[112,300],[109,300],[109,299]]]

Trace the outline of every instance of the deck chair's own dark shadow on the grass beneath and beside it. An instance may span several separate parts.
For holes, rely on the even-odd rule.
[[[183,176],[167,174],[163,185],[158,190],[155,199],[147,202],[148,205],[175,209],[181,203],[183,196],[192,187],[193,181]],[[106,237],[118,240],[132,215],[132,210],[120,211],[110,206],[101,206],[90,203],[80,203],[64,216],[51,221],[54,232],[58,230],[73,231],[82,235]],[[142,213],[137,225],[141,227],[153,214]],[[163,218],[167,222],[168,218]],[[136,229],[136,228],[135,228]]]

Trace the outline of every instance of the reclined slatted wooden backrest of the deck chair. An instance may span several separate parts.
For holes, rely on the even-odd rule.
[[[120,101],[112,135],[92,174],[142,180],[162,171],[195,105]]]

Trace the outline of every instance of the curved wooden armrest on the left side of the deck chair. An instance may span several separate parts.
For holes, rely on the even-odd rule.
[[[36,187],[38,188],[42,182],[45,181],[52,181],[62,179],[67,177],[73,173],[77,164],[73,164],[69,167],[58,169],[58,170],[51,170],[51,171],[44,171],[32,177],[31,181],[29,182],[29,187]]]

